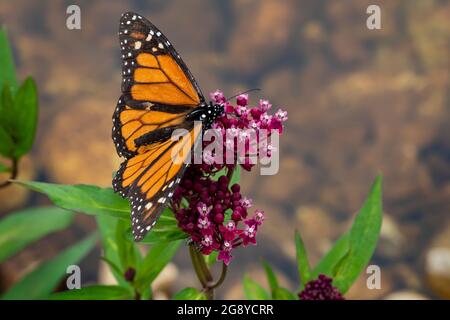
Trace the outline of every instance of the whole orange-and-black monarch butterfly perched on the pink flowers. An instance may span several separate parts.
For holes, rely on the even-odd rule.
[[[173,161],[172,151],[186,146],[192,150],[200,136],[194,121],[202,121],[203,129],[208,129],[224,108],[206,102],[172,44],[144,17],[124,13],[119,41],[122,95],[113,115],[112,139],[125,161],[113,188],[128,198],[133,236],[140,241],[156,223],[186,169],[184,161]],[[187,133],[173,141],[176,129]]]

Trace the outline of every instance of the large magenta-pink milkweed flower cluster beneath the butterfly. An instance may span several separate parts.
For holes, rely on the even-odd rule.
[[[244,139],[247,143],[247,129],[266,129],[269,132],[277,130],[281,133],[283,122],[287,120],[286,111],[281,109],[273,115],[269,114],[272,105],[267,100],[260,100],[258,106],[249,107],[246,94],[237,96],[235,106],[226,101],[223,93],[218,90],[211,93],[211,99],[222,103],[225,110],[212,128],[219,130],[224,136],[227,130],[228,133],[231,131],[236,141]],[[203,145],[207,146],[208,142],[203,142]],[[234,148],[236,159],[242,156],[237,151],[236,143],[224,139],[223,148],[229,148],[230,145]],[[265,147],[270,157],[270,144],[267,142]],[[248,150],[252,152],[251,148]],[[256,235],[265,218],[262,210],[249,213],[253,201],[241,194],[238,183],[232,183],[237,166],[251,171],[254,164],[250,161],[224,164],[215,161],[215,154],[203,151],[202,164],[191,164],[188,167],[171,203],[179,227],[189,234],[199,250],[205,255],[217,251],[218,260],[227,265],[235,248],[256,245]]]

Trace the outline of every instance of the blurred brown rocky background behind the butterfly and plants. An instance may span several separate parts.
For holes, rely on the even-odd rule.
[[[65,24],[74,1],[0,1],[19,77],[34,76],[40,94],[37,140],[20,179],[110,185],[120,163],[110,138],[118,21],[136,11],[171,39],[205,94],[259,87],[251,102],[263,96],[289,112],[279,173],[242,180],[267,221],[257,247],[237,250],[219,297],[242,298],[244,273],[264,283],[260,257],[295,288],[294,229],[315,263],[379,172],[385,217],[372,263],[382,268],[382,289],[368,290],[363,274],[348,297],[450,297],[449,1],[75,3],[81,30]],[[381,7],[381,30],[366,28],[370,4]],[[18,187],[0,191],[1,215],[45,203]],[[93,228],[79,216],[4,263],[2,290]],[[197,285],[185,251],[166,272],[171,290]],[[83,264],[85,283],[97,279],[98,256]]]

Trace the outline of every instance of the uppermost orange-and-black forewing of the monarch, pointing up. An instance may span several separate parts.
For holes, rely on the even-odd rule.
[[[142,16],[122,15],[122,92],[135,105],[196,107],[204,101],[194,77],[169,40]],[[146,102],[146,103],[142,103]]]

